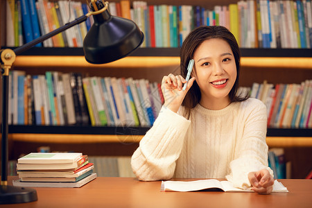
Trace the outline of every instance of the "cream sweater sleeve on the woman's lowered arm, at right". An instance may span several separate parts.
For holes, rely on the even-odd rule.
[[[266,105],[263,103],[246,103],[252,105],[245,112],[243,136],[237,141],[234,160],[230,162],[231,173],[226,176],[234,187],[247,189],[251,187],[248,173],[268,167],[268,146],[266,144]]]

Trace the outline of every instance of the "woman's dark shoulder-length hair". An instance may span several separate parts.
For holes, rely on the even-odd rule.
[[[237,89],[239,88],[239,71],[241,69],[240,62],[241,62],[241,52],[239,51],[239,44],[237,44],[234,35],[227,30],[224,26],[200,26],[185,38],[182,48],[180,51],[180,73],[183,77],[187,76],[187,66],[189,64],[189,60],[193,58],[194,52],[204,42],[205,40],[213,39],[213,38],[220,38],[225,40],[232,49],[235,64],[236,64],[236,80],[234,86],[232,87],[231,91],[229,92],[229,101],[233,102],[240,102],[245,101],[248,96],[241,97],[236,96]],[[189,118],[191,109],[195,107],[200,102],[201,94],[200,94],[200,87],[195,82],[193,83],[189,92],[184,98],[182,102],[182,106],[184,106],[184,116]]]

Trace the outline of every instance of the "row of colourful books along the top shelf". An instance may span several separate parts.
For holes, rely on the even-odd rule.
[[[20,2],[21,11],[15,9],[18,7],[13,0],[6,1],[6,8],[8,17],[21,15],[26,42],[31,40],[31,35],[38,33],[38,28],[44,35],[86,14],[88,10],[87,4],[80,1]],[[26,9],[28,12],[25,13]],[[202,5],[183,5],[183,2],[173,6],[170,2],[150,5],[148,1],[122,0],[111,2],[109,10],[112,15],[136,22],[146,37],[142,47],[181,46],[186,35],[200,25],[221,25],[229,28],[242,48],[310,49],[312,46],[310,0],[237,1],[223,6],[211,5],[209,8]],[[32,14],[37,15],[37,18]],[[16,19],[18,18],[7,18],[7,46],[17,46],[17,31],[21,30]],[[44,46],[81,47],[92,23],[92,18],[89,18],[46,40]]]

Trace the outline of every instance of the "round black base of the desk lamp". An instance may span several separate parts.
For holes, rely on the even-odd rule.
[[[37,200],[35,189],[1,185],[0,205],[33,202]]]

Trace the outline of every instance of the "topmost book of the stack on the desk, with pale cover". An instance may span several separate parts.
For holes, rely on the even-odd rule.
[[[18,164],[66,164],[73,163],[83,153],[29,153],[17,159]]]

